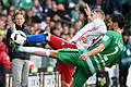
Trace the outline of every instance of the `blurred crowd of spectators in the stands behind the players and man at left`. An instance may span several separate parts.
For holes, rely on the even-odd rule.
[[[69,41],[76,32],[88,23],[84,12],[85,3],[88,3],[91,9],[97,8],[105,12],[107,27],[110,14],[121,13],[124,15],[124,51],[119,62],[119,69],[120,78],[127,79],[124,77],[127,77],[131,64],[124,59],[131,55],[131,0],[0,0],[0,36],[11,27],[14,12],[21,10],[25,15],[25,26],[32,35],[50,32],[52,35]],[[2,36],[0,42],[4,42],[5,39]],[[37,46],[50,48],[46,44],[37,44]],[[126,72],[121,72],[121,70],[126,70]],[[121,83],[126,85],[124,82]]]

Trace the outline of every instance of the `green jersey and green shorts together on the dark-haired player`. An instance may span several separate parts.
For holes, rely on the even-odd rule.
[[[73,86],[82,87],[86,79],[104,66],[115,64],[123,51],[123,40],[119,33],[108,30],[99,44],[105,45],[105,50],[96,55],[88,57],[86,61],[80,61],[79,57],[88,50],[60,49],[59,60],[70,65],[76,66],[73,75]],[[98,44],[98,45],[99,45]],[[81,83],[78,83],[81,82]]]

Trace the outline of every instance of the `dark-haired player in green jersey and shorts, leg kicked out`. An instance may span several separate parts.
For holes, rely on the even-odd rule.
[[[93,50],[60,49],[48,50],[33,47],[19,47],[20,51],[31,52],[41,57],[52,57],[64,63],[76,66],[73,75],[73,87],[82,87],[86,79],[104,66],[111,67],[116,64],[123,51],[123,40],[121,29],[123,27],[123,16],[114,14],[110,17],[114,30],[108,30],[97,47]]]

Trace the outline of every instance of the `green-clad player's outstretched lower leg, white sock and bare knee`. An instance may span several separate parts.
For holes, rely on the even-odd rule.
[[[19,50],[22,52],[28,52],[39,57],[52,57],[55,59],[58,59],[57,50],[43,49],[37,47],[20,47]]]

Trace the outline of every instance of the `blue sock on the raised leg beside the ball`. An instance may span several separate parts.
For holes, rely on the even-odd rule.
[[[44,42],[46,41],[46,36],[44,34],[28,35],[26,36],[26,40],[32,42]]]

